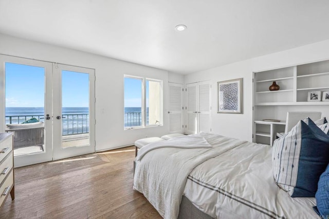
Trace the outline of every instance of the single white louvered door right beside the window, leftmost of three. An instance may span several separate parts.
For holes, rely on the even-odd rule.
[[[183,133],[183,85],[169,83],[169,132]]]

